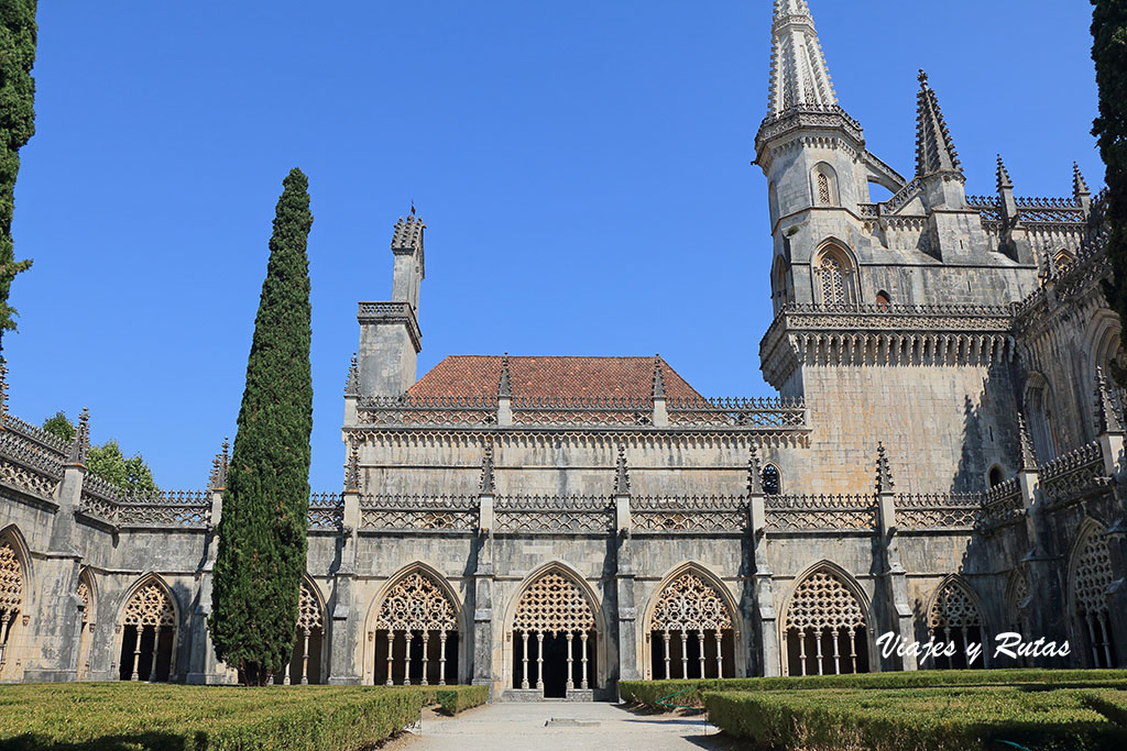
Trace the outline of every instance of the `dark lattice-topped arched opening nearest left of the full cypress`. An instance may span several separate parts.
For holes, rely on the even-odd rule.
[[[154,579],[130,597],[122,615],[118,679],[167,681],[172,676],[176,608],[172,596]]]

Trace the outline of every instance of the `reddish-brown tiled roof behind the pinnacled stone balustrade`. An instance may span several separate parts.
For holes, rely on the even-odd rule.
[[[491,396],[500,379],[500,357],[452,355],[408,390],[411,396]],[[513,396],[629,397],[653,395],[653,357],[509,357]],[[665,394],[700,397],[662,360]]]

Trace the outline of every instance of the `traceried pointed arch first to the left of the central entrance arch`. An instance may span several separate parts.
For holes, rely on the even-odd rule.
[[[449,580],[415,561],[376,592],[365,631],[365,672],[373,683],[445,685],[465,674],[465,609]],[[447,664],[453,670],[447,670]]]

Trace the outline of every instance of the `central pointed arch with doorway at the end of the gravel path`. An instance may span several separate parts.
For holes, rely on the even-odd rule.
[[[586,579],[562,561],[539,566],[521,582],[506,608],[505,626],[514,689],[566,698],[605,682],[603,609]]]

